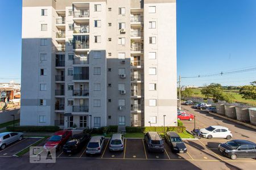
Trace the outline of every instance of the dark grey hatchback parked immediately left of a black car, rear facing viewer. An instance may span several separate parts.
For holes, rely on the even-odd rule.
[[[151,151],[160,151],[164,152],[164,142],[163,139],[156,131],[148,131],[145,136],[144,140],[147,145],[148,152]]]

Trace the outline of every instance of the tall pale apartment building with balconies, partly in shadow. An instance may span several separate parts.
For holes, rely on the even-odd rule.
[[[176,125],[175,0],[23,0],[20,125]]]

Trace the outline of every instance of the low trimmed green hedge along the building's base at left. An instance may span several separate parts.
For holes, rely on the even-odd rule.
[[[13,126],[7,126],[6,129],[8,131],[13,131]],[[14,131],[48,131],[55,132],[59,131],[59,126],[15,126]]]

